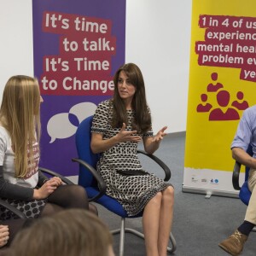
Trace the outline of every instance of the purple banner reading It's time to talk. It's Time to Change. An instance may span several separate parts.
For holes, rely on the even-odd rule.
[[[32,14],[40,166],[78,175],[74,134],[113,95],[113,73],[125,63],[125,0],[33,0]]]

